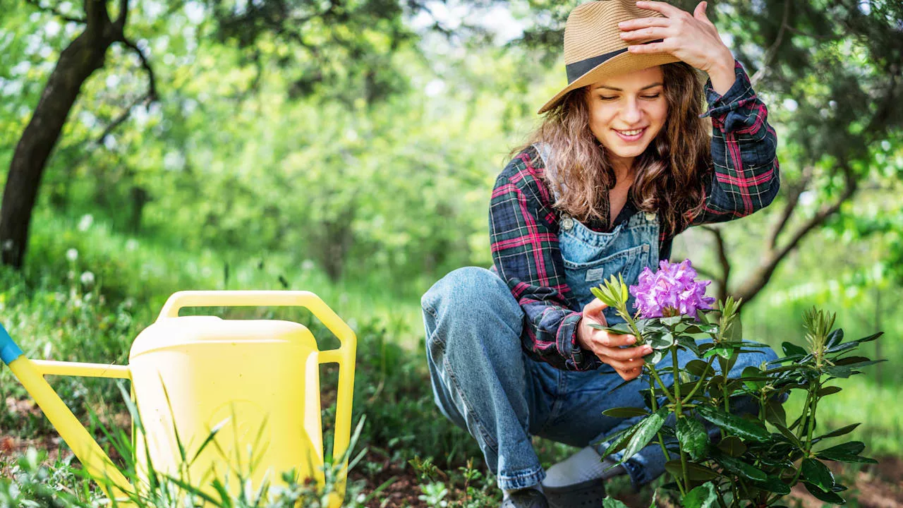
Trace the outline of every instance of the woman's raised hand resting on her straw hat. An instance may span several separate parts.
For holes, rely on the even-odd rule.
[[[727,81],[727,88],[734,80],[734,59],[731,50],[721,41],[718,29],[705,14],[708,2],[696,5],[693,14],[665,2],[637,2],[641,9],[648,9],[664,17],[650,16],[623,21],[618,24],[625,41],[662,39],[662,42],[631,44],[628,51],[637,54],[671,53],[696,69],[706,71],[712,77],[712,85],[719,93],[716,77]]]

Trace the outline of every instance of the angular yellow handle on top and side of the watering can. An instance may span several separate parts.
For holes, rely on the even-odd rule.
[[[179,316],[182,307],[191,306],[302,306],[317,316],[330,332],[339,337],[339,349],[321,351],[321,363],[339,363],[339,387],[336,400],[335,441],[332,444],[333,464],[348,466],[351,434],[351,399],[354,387],[355,354],[358,339],[349,325],[332,312],[320,296],[310,291],[179,291],[166,300],[157,321]],[[344,477],[344,475],[340,475]]]

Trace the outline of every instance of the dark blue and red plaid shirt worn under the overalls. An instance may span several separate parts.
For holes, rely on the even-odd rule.
[[[768,206],[779,187],[777,136],[768,109],[746,71],[735,61],[736,80],[723,96],[705,85],[712,118],[712,165],[704,185],[704,205],[690,225],[731,221]],[[595,354],[577,343],[581,309],[570,299],[558,247],[559,212],[543,180],[542,159],[529,147],[498,175],[489,204],[489,237],[494,268],[524,309],[522,343],[535,360],[570,371],[600,366]],[[618,220],[636,209],[628,205]],[[612,225],[612,226],[613,226]],[[678,231],[679,232],[679,231]],[[662,231],[659,253],[670,255],[674,235]]]

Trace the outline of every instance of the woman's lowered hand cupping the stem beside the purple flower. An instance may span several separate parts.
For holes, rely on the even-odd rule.
[[[643,367],[643,356],[652,353],[647,345],[632,346],[636,337],[628,334],[610,334],[605,330],[597,330],[590,325],[608,325],[602,310],[607,307],[599,298],[593,299],[583,307],[583,317],[577,325],[577,343],[583,349],[591,351],[602,363],[610,365],[625,381],[635,379]]]

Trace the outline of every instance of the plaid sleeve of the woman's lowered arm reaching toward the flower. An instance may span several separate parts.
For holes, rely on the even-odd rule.
[[[496,180],[489,204],[492,260],[524,309],[521,341],[526,353],[562,370],[595,369],[599,358],[577,343],[582,314],[567,300],[558,215],[540,170],[530,161],[529,153],[522,152]]]

